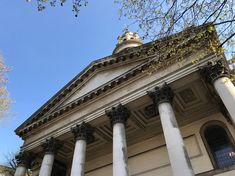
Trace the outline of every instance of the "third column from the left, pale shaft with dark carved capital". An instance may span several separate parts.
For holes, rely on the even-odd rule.
[[[71,176],[84,176],[85,174],[85,158],[86,145],[94,141],[93,128],[86,123],[81,123],[71,128],[75,137],[75,149],[73,154],[73,163]]]

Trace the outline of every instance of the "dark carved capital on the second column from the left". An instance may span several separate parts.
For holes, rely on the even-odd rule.
[[[56,153],[59,148],[62,147],[62,143],[53,137],[46,139],[46,141],[42,144],[42,147],[45,153]]]

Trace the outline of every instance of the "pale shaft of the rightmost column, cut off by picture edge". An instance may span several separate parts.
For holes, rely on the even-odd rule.
[[[214,87],[235,124],[235,87],[233,83],[229,78],[222,77],[214,82]]]

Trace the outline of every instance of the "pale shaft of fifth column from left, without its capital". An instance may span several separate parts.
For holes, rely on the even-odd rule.
[[[168,102],[160,103],[158,110],[174,176],[193,176],[192,166],[176,118]]]

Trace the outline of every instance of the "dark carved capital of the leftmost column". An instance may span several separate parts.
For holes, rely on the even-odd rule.
[[[15,156],[17,166],[29,167],[33,159],[33,155],[26,151],[20,151],[19,154]]]

